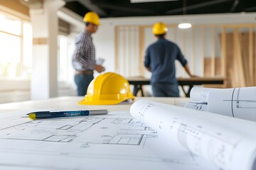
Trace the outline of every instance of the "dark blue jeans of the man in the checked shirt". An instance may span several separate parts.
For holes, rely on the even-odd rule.
[[[85,96],[90,81],[93,79],[93,74],[75,74],[75,84],[78,89],[78,96]]]

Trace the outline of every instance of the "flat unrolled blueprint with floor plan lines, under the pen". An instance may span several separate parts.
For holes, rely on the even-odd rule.
[[[0,113],[3,170],[218,170],[128,112],[29,120]]]

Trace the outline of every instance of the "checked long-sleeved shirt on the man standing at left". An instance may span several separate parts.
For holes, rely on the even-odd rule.
[[[72,64],[75,70],[93,70],[95,67],[95,46],[92,37],[86,30],[82,30],[75,38],[75,52]]]

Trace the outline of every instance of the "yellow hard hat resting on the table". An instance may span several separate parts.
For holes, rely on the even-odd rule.
[[[85,99],[79,104],[112,105],[129,99],[135,99],[129,82],[119,74],[107,72],[90,82]]]

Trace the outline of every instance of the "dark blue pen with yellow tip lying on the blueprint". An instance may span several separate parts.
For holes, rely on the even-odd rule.
[[[77,115],[107,115],[107,110],[91,110],[91,111],[39,111],[28,113],[28,118],[35,120],[37,118],[61,118],[61,117],[72,117]]]

